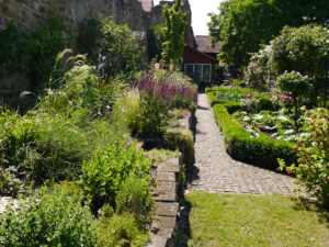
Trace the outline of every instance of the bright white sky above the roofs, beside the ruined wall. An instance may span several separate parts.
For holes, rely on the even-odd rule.
[[[160,0],[155,0],[155,5]],[[211,21],[208,13],[218,13],[219,3],[224,0],[190,0],[192,10],[192,26],[194,35],[208,35],[207,23]]]

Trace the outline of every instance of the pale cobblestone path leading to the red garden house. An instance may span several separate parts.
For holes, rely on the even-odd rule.
[[[197,101],[195,165],[186,175],[189,190],[250,194],[293,192],[288,176],[231,159],[225,150],[207,96],[200,93]]]

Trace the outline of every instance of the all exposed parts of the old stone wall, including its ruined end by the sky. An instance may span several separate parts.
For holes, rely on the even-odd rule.
[[[172,1],[161,1],[150,12],[143,10],[138,0],[0,0],[0,30],[5,29],[9,21],[21,24],[25,33],[44,26],[48,12],[59,14],[78,31],[86,19],[112,16],[116,23],[126,23],[133,31],[147,33],[150,23],[163,23],[162,7]],[[189,0],[183,0],[182,9],[191,13]],[[194,47],[195,40],[191,26],[191,14],[185,29],[185,43]],[[22,91],[32,90],[31,81],[24,75],[8,75],[0,80],[0,104],[20,99]],[[2,102],[2,103],[3,103]]]

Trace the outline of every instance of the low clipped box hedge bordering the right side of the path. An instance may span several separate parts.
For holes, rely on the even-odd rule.
[[[272,139],[262,133],[259,137],[251,137],[229,114],[234,112],[237,102],[218,102],[212,90],[207,90],[207,94],[215,120],[225,136],[226,150],[232,158],[272,170],[279,168],[277,158],[286,160],[287,164],[296,164],[293,143]]]

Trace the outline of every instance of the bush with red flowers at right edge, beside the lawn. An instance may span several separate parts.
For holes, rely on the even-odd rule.
[[[280,169],[296,175],[299,189],[316,197],[319,203],[329,205],[329,111],[315,109],[305,111],[305,131],[308,137],[300,138],[294,147],[298,165],[286,166],[279,159]]]

